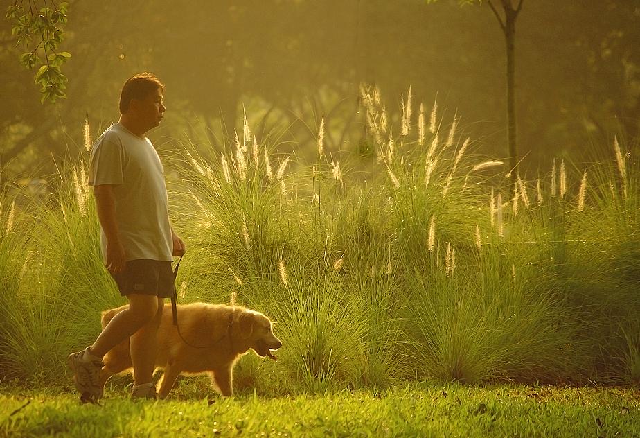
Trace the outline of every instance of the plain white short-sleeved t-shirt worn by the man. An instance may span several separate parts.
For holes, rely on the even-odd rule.
[[[120,123],[109,126],[91,148],[89,185],[114,184],[116,225],[127,261],[170,261],[173,240],[160,157],[151,141]],[[103,256],[107,239],[100,228]]]

